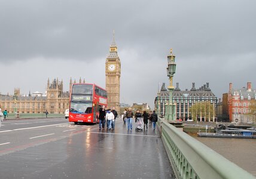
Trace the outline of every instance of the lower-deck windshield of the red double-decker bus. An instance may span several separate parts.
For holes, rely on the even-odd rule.
[[[80,101],[72,101],[71,102],[71,107],[70,107],[70,112],[72,113],[92,113],[92,103],[84,103]]]

